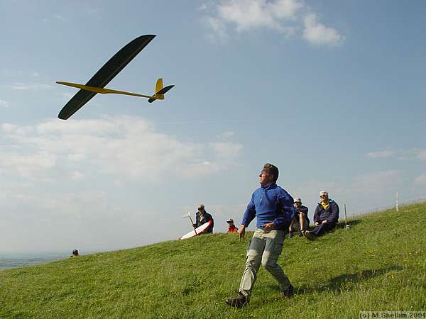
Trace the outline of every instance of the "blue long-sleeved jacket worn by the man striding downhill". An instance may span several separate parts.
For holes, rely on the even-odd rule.
[[[241,225],[249,226],[256,217],[257,228],[262,228],[266,223],[274,223],[274,229],[286,229],[293,216],[293,197],[277,184],[271,183],[253,192]]]

